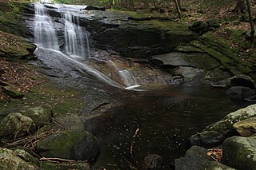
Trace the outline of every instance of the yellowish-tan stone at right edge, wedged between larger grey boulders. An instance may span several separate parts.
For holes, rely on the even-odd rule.
[[[256,132],[256,117],[250,117],[233,125],[241,136],[251,136]]]

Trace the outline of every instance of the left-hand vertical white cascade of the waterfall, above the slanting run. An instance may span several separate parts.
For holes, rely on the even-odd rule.
[[[59,50],[58,38],[46,8],[41,4],[34,4],[34,42],[46,49]]]

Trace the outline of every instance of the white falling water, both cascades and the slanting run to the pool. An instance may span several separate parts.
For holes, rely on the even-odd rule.
[[[97,77],[98,80],[105,82],[108,85],[122,89],[134,89],[135,87],[139,86],[137,85],[132,73],[125,69],[118,69],[118,67],[114,65],[112,61],[111,62],[114,68],[117,69],[119,75],[122,77],[122,81],[127,87],[119,85],[117,82],[112,81],[110,77],[106,77],[97,69],[86,65],[84,59],[86,59],[86,57],[90,57],[89,42],[86,31],[79,26],[78,17],[71,14],[72,10],[74,11],[73,8],[68,10],[66,6],[58,7],[58,10],[63,13],[62,18],[65,19],[65,53],[62,53],[59,49],[58,37],[54,29],[53,21],[47,14],[46,7],[42,4],[34,4],[34,41],[38,45],[38,48],[50,50],[50,52],[58,54],[58,57],[66,58],[68,61],[74,63],[74,65],[76,65],[79,69],[94,75],[94,77]],[[82,58],[82,60],[79,58]]]

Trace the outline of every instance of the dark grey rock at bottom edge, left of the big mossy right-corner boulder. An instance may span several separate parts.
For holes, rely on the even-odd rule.
[[[210,156],[207,156],[207,149],[192,146],[187,150],[185,157],[175,160],[175,170],[198,170],[203,169],[206,163],[214,161]]]

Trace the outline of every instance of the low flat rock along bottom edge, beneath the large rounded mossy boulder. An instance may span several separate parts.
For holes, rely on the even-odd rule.
[[[53,164],[50,162],[42,162],[43,169],[54,169],[54,170],[70,170],[70,169],[77,169],[77,170],[90,170],[90,164],[88,162],[75,162],[75,163],[60,163],[60,164]]]

